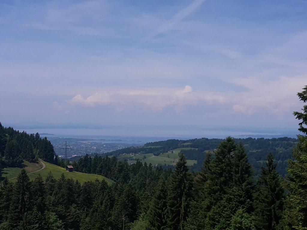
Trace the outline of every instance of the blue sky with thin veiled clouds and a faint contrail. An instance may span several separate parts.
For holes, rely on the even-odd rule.
[[[1,1],[0,121],[295,131],[306,12],[304,0]]]

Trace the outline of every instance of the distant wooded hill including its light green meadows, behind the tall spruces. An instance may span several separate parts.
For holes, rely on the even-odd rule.
[[[184,153],[187,160],[190,160],[190,169],[199,171],[202,167],[206,153],[213,152],[223,139],[191,139],[191,140],[164,140],[146,143],[141,147],[122,148],[109,155],[118,157],[119,160],[127,160],[129,163],[135,162],[137,159],[143,163],[152,163],[164,165],[165,167],[173,167],[178,156]],[[262,166],[265,166],[266,156],[269,153],[274,155],[278,161],[277,169],[284,175],[288,159],[292,158],[292,150],[297,144],[296,138],[280,137],[280,138],[239,138],[235,139],[236,143],[242,142],[249,162],[256,170],[256,174],[260,173]],[[180,150],[180,151],[178,151]],[[175,155],[174,155],[175,154]],[[191,161],[194,161],[192,163]],[[196,162],[195,162],[196,161]],[[192,164],[191,164],[192,163]]]

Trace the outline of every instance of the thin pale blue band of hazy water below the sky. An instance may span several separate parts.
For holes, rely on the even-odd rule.
[[[148,141],[157,141],[157,140],[167,140],[167,139],[194,139],[194,138],[219,138],[224,139],[227,136],[232,136],[235,138],[278,138],[278,137],[296,137],[299,132],[297,130],[269,130],[259,132],[252,130],[234,130],[234,129],[177,129],[177,130],[161,130],[161,129],[122,129],[122,128],[55,128],[55,127],[26,127],[26,126],[12,126],[14,129],[19,130],[20,132],[25,131],[27,133],[44,133],[42,136],[47,137],[62,137],[62,138],[111,138],[112,137],[121,137],[121,138],[139,138]],[[48,134],[48,135],[45,135]],[[52,135],[51,135],[52,134]],[[131,139],[131,140],[132,140]],[[148,142],[145,141],[144,143]]]

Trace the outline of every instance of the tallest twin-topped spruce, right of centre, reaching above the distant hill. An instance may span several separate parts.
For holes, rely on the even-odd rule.
[[[224,160],[221,156],[224,156]],[[204,190],[208,196],[204,196],[204,203],[209,205],[205,206],[208,211],[203,214],[203,225],[208,230],[227,229],[237,210],[241,209],[247,214],[252,212],[253,169],[242,143],[235,145],[230,137],[220,144],[210,168]],[[211,184],[219,186],[215,190],[209,188]],[[220,187],[221,185],[224,186]],[[210,191],[214,194],[210,194]]]

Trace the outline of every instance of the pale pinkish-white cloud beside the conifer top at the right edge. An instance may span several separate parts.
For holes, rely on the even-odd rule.
[[[280,116],[292,113],[299,108],[297,92],[303,87],[305,75],[280,76],[276,79],[263,79],[265,76],[251,76],[246,79],[233,79],[234,82],[249,88],[247,92],[235,93],[227,97],[227,103],[233,104],[237,113],[270,113]]]

